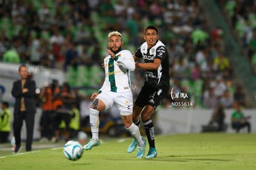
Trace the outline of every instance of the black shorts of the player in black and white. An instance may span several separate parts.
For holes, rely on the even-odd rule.
[[[154,88],[148,85],[144,85],[142,90],[140,91],[136,101],[135,106],[139,106],[140,108],[144,108],[147,104],[153,106],[154,109],[159,106],[164,98],[168,96],[169,89],[161,89],[161,88]]]

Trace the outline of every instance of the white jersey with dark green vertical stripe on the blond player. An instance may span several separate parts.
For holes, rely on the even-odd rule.
[[[121,50],[114,59],[106,56],[104,59],[105,81],[100,91],[124,92],[130,91],[130,71],[135,69],[132,53]]]

